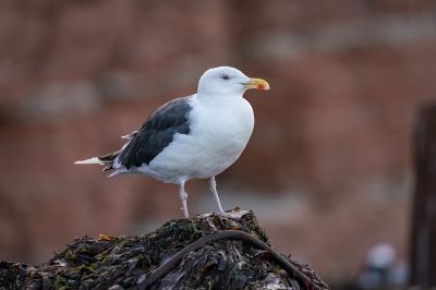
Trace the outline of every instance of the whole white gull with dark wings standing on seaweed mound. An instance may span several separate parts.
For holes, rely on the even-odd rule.
[[[207,70],[198,81],[197,93],[175,98],[153,112],[138,131],[122,136],[121,149],[76,161],[97,164],[118,174],[145,174],[179,185],[185,218],[185,182],[208,179],[209,188],[223,214],[215,177],[241,156],[254,128],[253,108],[243,98],[247,89],[269,89],[262,78],[249,77],[230,67]]]

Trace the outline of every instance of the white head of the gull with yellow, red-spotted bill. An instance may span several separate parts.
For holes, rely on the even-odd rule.
[[[249,77],[240,70],[218,67],[207,70],[198,82],[198,93],[207,95],[239,95],[245,90],[269,89],[269,84],[262,78]]]

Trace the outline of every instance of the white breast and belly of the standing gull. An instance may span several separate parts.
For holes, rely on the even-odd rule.
[[[164,182],[221,173],[239,158],[253,132],[253,109],[242,97],[221,99],[219,106],[196,98],[192,102],[196,109],[190,114],[190,134],[177,134],[147,167]]]

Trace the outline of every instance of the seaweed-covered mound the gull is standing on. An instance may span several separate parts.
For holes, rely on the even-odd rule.
[[[268,244],[253,212],[170,220],[136,237],[84,237],[31,267],[0,263],[4,289],[327,289]]]

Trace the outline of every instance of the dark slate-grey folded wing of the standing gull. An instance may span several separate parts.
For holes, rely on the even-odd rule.
[[[149,164],[173,140],[175,133],[189,134],[189,97],[173,99],[158,108],[118,157],[125,168]]]

